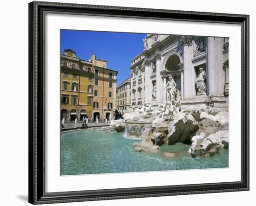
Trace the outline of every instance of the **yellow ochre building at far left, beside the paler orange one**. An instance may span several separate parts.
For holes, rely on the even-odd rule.
[[[93,112],[94,69],[66,49],[61,53],[61,119],[82,120]]]

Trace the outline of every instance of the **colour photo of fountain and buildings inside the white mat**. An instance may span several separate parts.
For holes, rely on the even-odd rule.
[[[61,176],[229,168],[229,37],[61,29],[59,95]]]

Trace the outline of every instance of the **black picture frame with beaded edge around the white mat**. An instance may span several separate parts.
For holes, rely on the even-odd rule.
[[[48,204],[249,190],[249,15],[34,1],[29,3],[29,203]],[[45,13],[238,24],[242,28],[241,181],[179,186],[45,192]]]

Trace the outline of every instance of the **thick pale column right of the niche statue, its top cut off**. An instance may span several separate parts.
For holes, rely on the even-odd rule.
[[[208,94],[223,96],[224,72],[222,68],[222,38],[207,38]]]

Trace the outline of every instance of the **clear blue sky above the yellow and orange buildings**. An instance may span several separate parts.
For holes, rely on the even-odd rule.
[[[131,60],[143,51],[142,33],[116,33],[61,30],[61,52],[72,49],[82,60],[90,53],[107,60],[108,68],[118,71],[117,85],[130,76]]]

